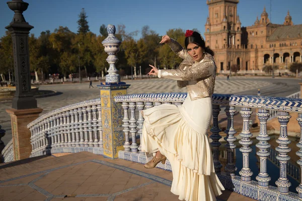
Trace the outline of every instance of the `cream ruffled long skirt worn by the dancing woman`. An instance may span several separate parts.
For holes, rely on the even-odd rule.
[[[141,149],[160,151],[172,166],[171,192],[180,200],[212,201],[224,190],[215,171],[207,130],[212,117],[211,98],[181,106],[161,105],[142,111]]]

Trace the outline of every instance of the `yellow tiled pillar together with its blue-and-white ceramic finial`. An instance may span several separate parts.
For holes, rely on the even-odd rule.
[[[105,47],[105,52],[108,53],[106,61],[110,67],[105,82],[101,82],[98,87],[101,89],[104,155],[109,158],[117,158],[118,151],[124,149],[125,136],[121,129],[123,128],[122,118],[118,118],[123,108],[121,104],[114,101],[114,96],[127,94],[127,88],[130,84],[120,81],[118,70],[115,67],[115,63],[118,61],[116,53],[121,44],[121,41],[114,36],[115,26],[108,25],[107,32],[108,37],[102,44]],[[131,107],[134,107],[135,110],[135,105]]]

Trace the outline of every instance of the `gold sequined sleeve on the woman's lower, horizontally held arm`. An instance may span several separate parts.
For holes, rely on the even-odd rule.
[[[215,65],[213,61],[204,61],[192,65],[187,70],[164,70],[159,71],[159,77],[174,79],[174,80],[197,80],[208,77],[213,74]]]

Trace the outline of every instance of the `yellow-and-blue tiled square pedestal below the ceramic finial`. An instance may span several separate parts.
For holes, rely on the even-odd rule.
[[[122,82],[124,83],[124,82]],[[118,152],[124,149],[123,108],[115,103],[114,96],[127,94],[129,84],[101,83],[102,127],[104,155],[117,158]]]

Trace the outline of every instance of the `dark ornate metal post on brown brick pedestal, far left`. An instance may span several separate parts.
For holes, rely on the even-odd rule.
[[[22,0],[13,0],[7,4],[15,12],[13,21],[6,29],[10,31],[13,39],[16,92],[13,108],[6,111],[11,116],[14,159],[20,160],[30,156],[32,150],[31,132],[26,127],[39,117],[42,109],[37,108],[37,100],[31,92],[28,34],[34,27],[29,25],[22,15],[27,10],[28,3]]]

